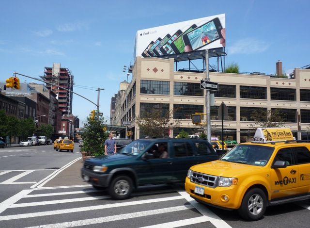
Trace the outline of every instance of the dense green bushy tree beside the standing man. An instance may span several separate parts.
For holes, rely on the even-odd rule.
[[[89,156],[104,155],[105,140],[108,138],[108,132],[106,131],[107,124],[104,117],[99,119],[87,117],[87,122],[84,124],[82,139],[83,146],[80,147],[80,151],[85,151]]]

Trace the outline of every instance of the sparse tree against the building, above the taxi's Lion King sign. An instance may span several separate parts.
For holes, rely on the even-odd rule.
[[[286,115],[281,113],[281,109],[259,109],[253,111],[251,118],[255,121],[255,126],[250,125],[253,129],[256,128],[277,128],[282,127],[286,120]],[[258,127],[257,127],[258,125]]]

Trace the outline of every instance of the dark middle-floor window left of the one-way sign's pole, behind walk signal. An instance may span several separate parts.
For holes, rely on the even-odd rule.
[[[203,113],[203,105],[173,104],[173,119],[192,119],[192,114]]]

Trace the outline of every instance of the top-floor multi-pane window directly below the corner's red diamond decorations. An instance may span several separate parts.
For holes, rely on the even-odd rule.
[[[140,93],[170,95],[170,82],[141,80]]]

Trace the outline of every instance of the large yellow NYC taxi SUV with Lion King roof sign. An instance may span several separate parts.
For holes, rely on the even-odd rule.
[[[257,129],[251,142],[192,166],[185,190],[200,203],[258,220],[267,206],[310,199],[310,143],[289,128]]]

